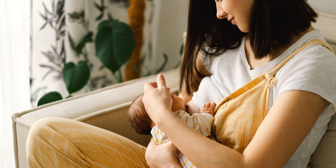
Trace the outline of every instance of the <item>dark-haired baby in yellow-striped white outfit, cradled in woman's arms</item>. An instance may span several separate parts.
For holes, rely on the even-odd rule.
[[[128,110],[128,121],[133,130],[139,134],[152,134],[153,139],[158,145],[170,141],[168,136],[155,125],[147,114],[144,104],[142,103],[142,97],[143,94],[135,98]],[[203,108],[200,110],[200,114],[195,113],[190,116],[186,113],[184,101],[178,96],[173,96],[173,105],[171,110],[176,117],[182,120],[185,124],[202,135],[215,140],[215,138],[211,135],[211,127],[214,122],[214,106],[214,102],[205,103],[203,104]],[[196,168],[196,166],[194,166],[194,164],[191,163],[181,152],[179,152],[178,162],[184,168]]]

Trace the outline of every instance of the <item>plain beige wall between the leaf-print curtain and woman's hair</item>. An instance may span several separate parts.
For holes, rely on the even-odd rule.
[[[154,65],[161,65],[162,54],[168,55],[165,70],[174,68],[181,60],[180,46],[183,44],[182,34],[187,30],[188,0],[155,0],[154,16]]]

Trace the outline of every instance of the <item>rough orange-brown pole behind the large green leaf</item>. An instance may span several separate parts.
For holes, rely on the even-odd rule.
[[[134,65],[138,69],[141,69],[140,52],[143,40],[142,29],[144,24],[145,3],[144,0],[129,0],[129,3],[130,3],[130,6],[128,8],[129,26],[133,30],[136,41],[135,48],[130,60],[134,63]],[[134,68],[127,62],[125,81],[140,77],[140,74],[136,72]]]

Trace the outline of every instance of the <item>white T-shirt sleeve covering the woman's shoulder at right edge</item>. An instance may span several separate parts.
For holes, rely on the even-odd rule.
[[[316,93],[336,104],[336,56],[325,46],[308,46],[277,73],[277,94],[288,90]]]

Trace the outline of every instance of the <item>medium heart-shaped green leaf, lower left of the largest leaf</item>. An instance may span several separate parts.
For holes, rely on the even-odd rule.
[[[90,69],[86,62],[79,61],[77,66],[69,62],[64,66],[63,79],[69,94],[81,90],[90,78]]]

